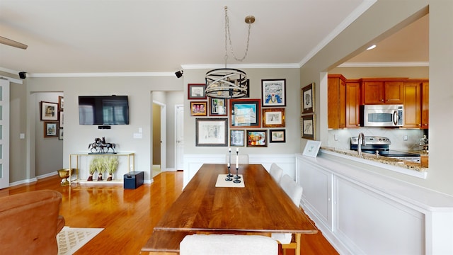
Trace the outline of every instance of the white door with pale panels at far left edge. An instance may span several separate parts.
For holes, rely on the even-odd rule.
[[[9,81],[0,79],[0,188],[9,186]]]

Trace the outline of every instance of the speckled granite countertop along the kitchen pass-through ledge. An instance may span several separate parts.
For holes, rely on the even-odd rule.
[[[387,158],[387,157],[376,157],[376,155],[369,154],[369,153],[362,153],[362,156],[359,156],[357,151],[352,151],[352,150],[348,150],[348,149],[338,149],[338,148],[334,148],[334,147],[321,147],[321,149],[327,150],[329,152],[336,152],[336,153],[339,153],[339,154],[344,154],[344,155],[348,155],[348,156],[352,156],[352,157],[357,157],[357,158],[360,158],[360,159],[367,159],[367,160],[371,160],[371,161],[374,161],[374,162],[379,162],[379,163],[382,163],[382,164],[389,164],[389,165],[392,165],[392,166],[398,166],[398,167],[402,167],[402,168],[405,168],[405,169],[411,169],[411,170],[414,170],[414,171],[420,171],[420,172],[428,171],[428,168],[421,166],[420,163],[407,162],[407,161],[401,160],[401,159],[391,159],[391,158]],[[419,154],[421,154],[421,153],[419,153]]]

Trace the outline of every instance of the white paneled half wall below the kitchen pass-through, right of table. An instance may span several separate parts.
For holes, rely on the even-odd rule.
[[[322,153],[296,165],[302,207],[340,254],[453,254],[452,196]]]

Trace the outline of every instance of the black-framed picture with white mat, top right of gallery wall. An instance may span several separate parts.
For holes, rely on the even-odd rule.
[[[286,106],[286,79],[261,80],[263,107]]]

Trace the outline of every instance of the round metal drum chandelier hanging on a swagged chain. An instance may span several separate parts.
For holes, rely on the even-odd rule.
[[[228,60],[228,42],[230,45],[231,55],[237,61],[243,61],[248,52],[248,42],[250,40],[251,24],[255,22],[254,16],[246,16],[246,23],[248,23],[248,37],[246,53],[243,57],[238,58],[234,55],[233,45],[231,45],[231,35],[229,32],[229,18],[228,7],[225,6],[225,68],[213,69],[206,73],[206,96],[210,98],[241,98],[248,93],[247,74],[239,69],[226,68]]]

